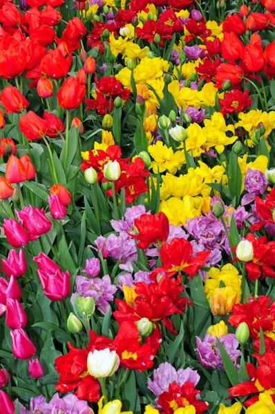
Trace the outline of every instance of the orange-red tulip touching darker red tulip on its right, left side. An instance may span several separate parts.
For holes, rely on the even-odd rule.
[[[47,133],[47,124],[44,119],[36,115],[35,112],[30,110],[27,115],[23,115],[19,119],[19,129],[26,135],[28,141],[34,139],[42,139]]]

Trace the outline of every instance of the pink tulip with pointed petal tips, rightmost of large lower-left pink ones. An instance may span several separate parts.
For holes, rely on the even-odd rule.
[[[37,270],[44,295],[54,302],[64,299],[70,293],[70,273],[66,270],[62,273],[60,269],[54,274],[48,274]]]

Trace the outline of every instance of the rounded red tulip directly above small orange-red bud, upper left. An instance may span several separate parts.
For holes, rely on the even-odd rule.
[[[50,49],[41,60],[41,71],[50,78],[61,79],[67,75],[71,63],[71,54],[65,58],[60,49]]]

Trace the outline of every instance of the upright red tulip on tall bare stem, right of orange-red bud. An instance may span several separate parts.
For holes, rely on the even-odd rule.
[[[59,105],[64,109],[78,108],[86,94],[86,86],[79,79],[70,76],[57,92]]]

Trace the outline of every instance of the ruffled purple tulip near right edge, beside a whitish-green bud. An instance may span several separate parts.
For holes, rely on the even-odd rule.
[[[244,184],[245,190],[247,190],[248,193],[243,196],[241,201],[242,206],[252,203],[256,195],[265,193],[268,187],[268,181],[265,178],[265,174],[259,170],[252,170],[251,168],[247,168]]]

